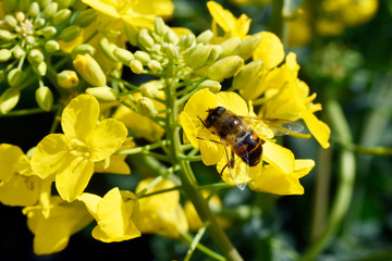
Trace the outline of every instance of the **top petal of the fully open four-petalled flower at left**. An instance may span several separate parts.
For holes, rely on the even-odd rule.
[[[86,140],[97,123],[98,115],[97,99],[79,95],[65,107],[61,116],[61,127],[69,139]]]

